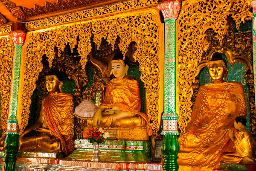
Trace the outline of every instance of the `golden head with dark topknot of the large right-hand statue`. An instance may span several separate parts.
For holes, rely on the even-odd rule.
[[[224,76],[227,80],[227,61],[222,58],[221,53],[214,52],[212,54],[212,59],[208,62],[208,70],[211,82],[213,80],[214,83],[222,83]]]

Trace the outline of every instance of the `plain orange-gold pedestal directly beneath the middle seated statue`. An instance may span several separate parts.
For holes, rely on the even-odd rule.
[[[84,127],[83,138],[86,138],[86,133],[92,128]],[[133,141],[149,141],[147,129],[142,128],[104,128],[110,134],[110,140],[133,140]]]

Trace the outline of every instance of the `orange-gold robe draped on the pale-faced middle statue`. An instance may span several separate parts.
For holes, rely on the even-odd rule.
[[[117,127],[137,127],[146,125],[148,135],[152,134],[152,129],[148,124],[148,116],[140,112],[141,99],[138,81],[130,76],[124,78],[113,78],[106,88],[104,102],[99,106],[109,108],[116,106],[122,111],[134,113],[134,116],[127,116],[116,120],[112,125],[112,115],[102,115],[101,125]]]

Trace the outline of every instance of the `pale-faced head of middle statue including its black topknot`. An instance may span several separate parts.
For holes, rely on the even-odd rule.
[[[123,60],[123,55],[121,52],[117,52],[114,58],[111,60],[111,70],[116,78],[124,78],[127,75],[129,66],[128,61]]]

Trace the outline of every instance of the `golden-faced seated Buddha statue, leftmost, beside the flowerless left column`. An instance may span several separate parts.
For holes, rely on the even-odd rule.
[[[61,73],[52,69],[45,84],[49,94],[43,97],[38,122],[20,135],[20,151],[62,151],[67,156],[74,151],[73,96],[62,93],[62,84]],[[32,131],[35,136],[29,135]]]

